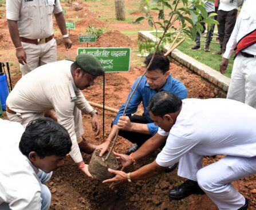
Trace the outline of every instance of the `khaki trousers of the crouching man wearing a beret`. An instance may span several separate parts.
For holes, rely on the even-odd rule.
[[[81,110],[74,106],[74,130],[76,132],[77,141],[80,143],[81,136],[84,134],[84,128],[82,127],[82,113]],[[19,122],[24,128],[31,120],[36,120],[37,118],[44,118],[44,112],[39,113],[16,113],[10,114],[7,112],[7,117],[10,121]]]

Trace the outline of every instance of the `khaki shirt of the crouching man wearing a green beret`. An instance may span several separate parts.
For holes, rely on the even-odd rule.
[[[40,66],[17,82],[7,97],[6,104],[17,113],[40,113],[55,109],[58,122],[69,132],[72,140],[70,156],[82,161],[74,129],[74,106],[89,114],[92,106],[74,85],[70,72],[72,61],[57,61]]]

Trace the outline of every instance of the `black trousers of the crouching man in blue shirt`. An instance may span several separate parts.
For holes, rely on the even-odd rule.
[[[140,124],[148,124],[147,118],[143,114],[142,116],[134,114],[133,116],[129,117],[131,122],[140,123]],[[111,126],[113,125],[113,122]],[[145,133],[137,133],[137,132],[130,132],[126,130],[120,130],[119,136],[126,138],[127,140],[131,141],[133,144],[137,144],[138,146],[141,146],[144,144],[145,141],[147,141],[149,138],[152,137],[151,134],[145,134]],[[166,142],[160,147],[163,148]]]

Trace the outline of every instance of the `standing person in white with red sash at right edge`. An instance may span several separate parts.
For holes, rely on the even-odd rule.
[[[237,18],[227,49],[220,63],[226,73],[231,54],[235,60],[227,98],[241,101],[256,109],[256,1],[246,0]]]

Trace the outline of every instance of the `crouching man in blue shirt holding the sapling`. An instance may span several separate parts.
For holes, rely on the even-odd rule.
[[[144,63],[146,66],[148,66],[152,56],[152,54],[149,54],[149,56],[145,58]],[[182,82],[171,76],[168,72],[169,68],[170,61],[168,58],[163,56],[163,54],[157,53],[147,73],[145,73],[139,86],[137,86],[137,89],[129,102],[125,116],[123,116],[123,112],[127,101],[121,106],[119,113],[117,113],[115,120],[112,122],[112,129],[107,140],[103,144],[97,146],[96,149],[101,149],[100,156],[106,152],[109,144],[111,144],[111,141],[115,138],[117,129],[120,129],[119,136],[122,136],[135,144],[128,150],[127,154],[135,152],[135,150],[157,132],[158,126],[153,123],[147,110],[149,101],[156,93],[166,90],[175,94],[181,100],[187,97],[186,87]],[[140,77],[137,78],[132,85],[129,96],[137,85],[137,82],[140,80]],[[129,96],[127,97],[127,100]],[[141,102],[143,104],[144,113],[142,116],[139,116],[134,113],[136,113]],[[159,145],[159,147],[162,146]]]

